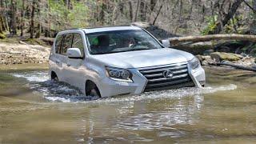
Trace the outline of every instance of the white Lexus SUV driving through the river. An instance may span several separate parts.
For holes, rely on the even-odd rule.
[[[205,71],[193,54],[166,48],[136,26],[59,32],[49,64],[53,80],[95,97],[206,83]]]

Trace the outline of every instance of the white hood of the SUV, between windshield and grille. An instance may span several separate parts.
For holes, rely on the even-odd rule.
[[[193,54],[170,48],[154,50],[138,50],[113,54],[93,55],[94,60],[105,66],[118,68],[142,68],[161,66],[179,62],[187,62],[194,58]]]

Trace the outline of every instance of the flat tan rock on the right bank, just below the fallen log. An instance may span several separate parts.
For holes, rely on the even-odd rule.
[[[214,62],[222,62],[222,61],[239,61],[242,59],[242,55],[240,54],[231,54],[231,53],[224,53],[224,52],[214,52],[210,54],[210,58],[214,60]]]

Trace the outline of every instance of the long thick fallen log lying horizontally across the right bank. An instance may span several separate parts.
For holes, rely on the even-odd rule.
[[[170,46],[177,46],[181,42],[207,42],[213,40],[239,40],[256,42],[256,35],[248,34],[212,34],[203,36],[186,36],[169,38]]]

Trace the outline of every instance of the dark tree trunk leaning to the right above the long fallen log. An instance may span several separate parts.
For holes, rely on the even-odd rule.
[[[214,34],[219,34],[222,31],[222,27],[226,26],[226,24],[230,21],[231,18],[234,17],[234,14],[238,10],[238,7],[241,5],[242,0],[235,0],[230,7],[230,11],[227,14],[223,15],[223,18],[220,17],[220,22],[217,23],[217,26],[215,26],[213,32]]]

